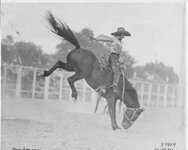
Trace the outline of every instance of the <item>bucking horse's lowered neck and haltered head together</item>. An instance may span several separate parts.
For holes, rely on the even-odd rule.
[[[126,78],[123,101],[127,108],[124,111],[121,125],[124,129],[128,129],[132,126],[132,124],[136,121],[144,109],[140,108],[137,92],[133,85]]]

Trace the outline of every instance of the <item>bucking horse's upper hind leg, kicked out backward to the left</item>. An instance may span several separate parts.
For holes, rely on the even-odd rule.
[[[64,63],[64,62],[62,62],[62,61],[59,60],[59,61],[56,62],[56,64],[50,70],[48,70],[48,71],[45,70],[43,72],[43,74],[40,75],[40,76],[47,77],[52,72],[54,72],[57,68],[62,68],[64,70],[66,70],[66,71],[74,71],[73,68],[72,68],[72,66],[70,64]]]

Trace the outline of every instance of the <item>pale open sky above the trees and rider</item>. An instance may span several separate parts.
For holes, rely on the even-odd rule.
[[[64,20],[74,31],[90,28],[94,35],[109,35],[124,27],[131,37],[124,49],[136,65],[162,61],[180,75],[184,50],[184,3],[2,3],[2,38],[12,34],[16,41],[40,45],[44,53],[54,53],[61,42],[47,28],[46,11]],[[3,14],[2,14],[3,13]],[[17,30],[20,35],[17,35]]]

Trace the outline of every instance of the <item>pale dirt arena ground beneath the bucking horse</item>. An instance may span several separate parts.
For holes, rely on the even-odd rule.
[[[6,98],[1,104],[2,150],[186,149],[183,108],[145,107],[130,129],[113,131],[109,116],[93,113],[91,103]]]

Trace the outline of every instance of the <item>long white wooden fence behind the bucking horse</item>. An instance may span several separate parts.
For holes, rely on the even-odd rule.
[[[1,66],[2,96],[31,99],[70,100],[71,90],[67,77],[71,73],[55,71],[50,77],[39,78],[40,68],[25,67],[12,64]],[[142,80],[130,80],[135,86],[141,105],[161,107],[184,107],[184,99],[177,85],[161,84]],[[76,82],[78,100],[94,102],[97,93],[85,80]]]

